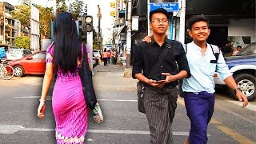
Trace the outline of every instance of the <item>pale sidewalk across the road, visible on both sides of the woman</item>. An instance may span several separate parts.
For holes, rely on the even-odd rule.
[[[136,83],[138,80],[133,78],[125,78],[124,70],[126,66],[108,65],[103,66],[100,63],[94,67],[94,90],[122,90],[122,91],[136,91]],[[14,77],[10,80],[3,80],[0,78],[1,86],[21,86],[21,85],[34,85],[42,86],[43,76],[28,75],[25,77]],[[52,83],[51,87],[54,86]]]

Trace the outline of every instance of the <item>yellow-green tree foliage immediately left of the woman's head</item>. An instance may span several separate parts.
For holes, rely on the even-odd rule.
[[[51,23],[50,20],[54,19],[53,8],[36,6],[39,9],[39,30],[40,34],[44,34],[50,37]]]

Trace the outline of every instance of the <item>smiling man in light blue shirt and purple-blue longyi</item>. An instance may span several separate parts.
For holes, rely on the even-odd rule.
[[[234,90],[243,106],[248,104],[247,98],[230,74],[222,53],[216,57],[213,47],[206,42],[210,34],[209,21],[206,17],[194,16],[188,21],[190,37],[193,42],[188,43],[186,58],[189,62],[191,77],[185,78],[182,85],[187,116],[190,118],[190,136],[186,143],[206,144],[207,127],[214,113],[214,72],[226,82],[230,89]]]

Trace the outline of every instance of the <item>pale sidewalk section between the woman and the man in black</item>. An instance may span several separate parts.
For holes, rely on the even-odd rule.
[[[126,66],[112,64],[103,66],[102,63],[94,67],[94,89],[136,91],[136,83],[138,80],[131,77],[125,78],[123,76],[125,68]]]

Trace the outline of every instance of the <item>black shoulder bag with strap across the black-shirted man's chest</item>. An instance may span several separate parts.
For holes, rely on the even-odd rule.
[[[170,48],[170,46],[168,46],[164,50],[162,50],[160,58],[158,58],[158,61],[155,62],[154,66],[150,70],[150,73],[152,72],[152,70],[155,69],[155,66],[158,66],[158,63],[161,63],[163,61],[163,59],[165,58],[165,56],[167,54],[167,50],[169,48]],[[138,97],[138,111],[141,112],[141,113],[146,114],[145,107],[144,107],[144,98],[143,98],[143,93],[144,93],[144,90],[145,90],[145,86],[144,86],[143,82],[141,82],[141,81],[137,82],[137,90],[138,90],[138,93],[137,93],[137,97]]]

